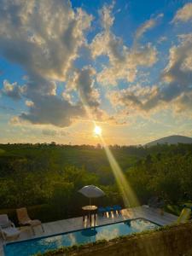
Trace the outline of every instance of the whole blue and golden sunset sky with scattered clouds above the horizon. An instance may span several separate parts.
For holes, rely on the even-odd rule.
[[[0,3],[0,143],[192,137],[191,1]]]

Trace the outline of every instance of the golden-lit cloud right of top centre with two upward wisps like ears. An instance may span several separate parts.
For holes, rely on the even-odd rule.
[[[98,73],[97,81],[101,84],[112,85],[117,85],[120,79],[133,82],[136,79],[138,67],[151,67],[157,61],[157,50],[152,44],[140,45],[136,42],[144,32],[156,24],[156,21],[162,15],[158,15],[153,20],[148,20],[138,28],[133,47],[129,49],[123,43],[122,38],[116,37],[111,32],[114,20],[112,7],[109,9],[104,7],[100,14],[102,14],[103,30],[91,42],[90,50],[93,59],[100,55],[107,55],[109,63]]]

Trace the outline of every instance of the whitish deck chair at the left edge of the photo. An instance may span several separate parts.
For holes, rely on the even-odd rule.
[[[0,230],[4,241],[15,240],[20,236],[20,230],[15,228],[15,224],[9,220],[7,214],[0,215]]]

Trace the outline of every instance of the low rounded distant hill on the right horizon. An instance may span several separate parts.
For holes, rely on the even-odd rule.
[[[177,143],[183,143],[183,144],[190,144],[192,143],[191,137],[181,136],[181,135],[172,135],[168,137],[162,137],[158,140],[155,140],[153,142],[147,143],[146,146],[154,146],[156,144],[177,144]]]

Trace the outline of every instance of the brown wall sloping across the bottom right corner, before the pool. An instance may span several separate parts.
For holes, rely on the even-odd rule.
[[[67,253],[67,255],[192,256],[192,223],[171,226],[167,229],[137,236],[125,236],[107,243],[86,245]]]

